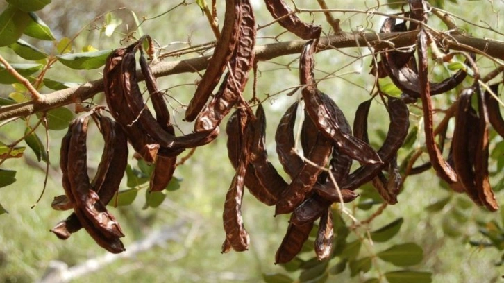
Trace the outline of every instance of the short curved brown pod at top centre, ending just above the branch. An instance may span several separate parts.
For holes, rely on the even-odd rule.
[[[292,14],[292,10],[283,0],[264,0],[264,3],[266,3],[266,8],[269,10],[271,17],[278,19],[278,24],[287,29],[287,31],[294,33],[303,40],[312,40],[320,37],[321,26],[302,22],[296,14]]]

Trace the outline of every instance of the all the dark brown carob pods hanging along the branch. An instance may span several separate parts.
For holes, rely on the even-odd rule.
[[[308,40],[299,65],[305,113],[300,139],[303,153],[293,151],[296,148],[294,123],[298,102],[291,105],[281,118],[275,137],[280,163],[291,182],[284,180],[268,160],[266,117],[262,105],[257,105],[254,113],[242,96],[255,57],[256,24],[251,3],[249,0],[229,0],[226,1],[224,26],[214,55],[185,113],[186,121],[195,120],[194,132],[188,135],[175,135],[162,92],[158,91],[156,78],[143,54],[144,38],[126,48],[116,49],[108,57],[103,77],[108,110],[115,121],[94,111],[69,126],[62,141],[60,160],[65,196],[56,197],[53,208],[74,209],[74,213],[58,223],[52,232],[67,239],[83,227],[106,250],[124,251],[120,241],[124,234],[115,218],[107,212],[106,204],[115,196],[124,175],[127,142],[146,162],[154,164],[150,190],[159,191],[171,180],[177,155],[186,148],[203,146],[215,139],[219,135],[221,120],[235,109],[226,125],[228,157],[236,173],[224,204],[226,239],[222,252],[243,251],[249,247],[249,234],[241,215],[242,196],[244,187],[247,187],[262,203],[275,205],[276,214],[292,213],[287,233],[276,252],[276,263],[290,261],[300,252],[317,219],[320,220],[315,252],[319,259],[330,257],[333,244],[330,207],[333,203],[354,200],[358,196],[355,189],[370,181],[385,202],[397,203],[401,188],[397,151],[408,135],[407,103],[418,98],[423,107],[430,162],[412,169],[412,172],[419,173],[432,166],[456,191],[466,192],[475,203],[485,205],[489,210],[498,209],[488,182],[489,122],[499,134],[504,134],[504,122],[496,100],[488,93],[482,94],[478,84],[464,89],[456,102],[456,125],[448,160],[443,159],[442,148],[435,142],[430,96],[453,89],[462,83],[466,73],[459,71],[441,83],[428,81],[426,44],[429,35],[421,24],[416,24],[426,21],[423,1],[410,1],[410,12],[404,15],[416,22],[396,24],[395,19],[389,18],[382,27],[383,33],[419,30],[419,35],[418,62],[414,51],[389,50],[382,53],[380,62],[376,62],[373,68],[375,76],[389,76],[403,91],[401,98],[378,92],[390,120],[387,137],[378,151],[371,148],[367,136],[367,116],[373,98],[359,105],[352,131],[335,101],[317,89],[313,68],[321,28],[301,22],[283,1],[266,0],[266,3],[281,26]],[[150,38],[147,39],[150,42]],[[138,85],[135,60],[138,50],[142,53],[140,69],[155,116],[146,106]],[[467,64],[473,66],[473,58],[468,58]],[[226,68],[228,73],[217,93],[210,98]],[[496,92],[498,86],[492,87]],[[478,111],[471,107],[473,94],[478,96]],[[91,182],[86,164],[90,118],[96,121],[105,140],[102,159]],[[441,132],[442,147],[446,128],[438,132]],[[360,162],[360,167],[351,172],[353,160]]]

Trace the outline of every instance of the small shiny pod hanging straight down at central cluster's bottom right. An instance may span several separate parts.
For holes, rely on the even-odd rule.
[[[317,231],[317,237],[314,243],[317,259],[322,260],[330,257],[333,251],[333,238],[333,212],[330,207],[327,207],[320,217],[319,230]]]

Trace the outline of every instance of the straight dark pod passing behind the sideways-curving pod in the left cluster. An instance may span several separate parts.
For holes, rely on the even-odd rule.
[[[151,96],[154,112],[156,112],[156,121],[160,127],[170,135],[175,135],[175,128],[170,122],[170,114],[162,97],[162,92],[158,90],[156,77],[153,76],[151,68],[147,63],[146,58],[141,52],[140,55],[140,69],[145,78],[145,84]],[[175,164],[177,162],[176,156],[165,156],[164,148],[160,149],[158,158],[156,159],[154,170],[152,171],[151,180],[149,184],[150,191],[162,191],[165,189],[174,175]]]

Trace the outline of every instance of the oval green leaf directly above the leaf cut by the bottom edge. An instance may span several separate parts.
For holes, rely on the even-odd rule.
[[[378,252],[377,256],[395,266],[412,266],[422,261],[423,250],[416,243],[403,243]]]

